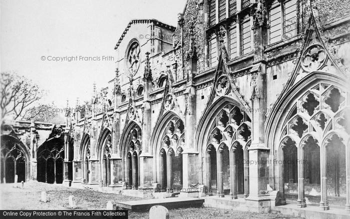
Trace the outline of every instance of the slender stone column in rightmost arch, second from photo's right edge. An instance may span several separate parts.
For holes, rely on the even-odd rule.
[[[326,162],[325,162],[325,147],[320,147],[319,148],[319,153],[320,153],[320,172],[321,172],[321,200],[319,202],[319,207],[322,210],[329,210],[329,205],[327,201],[327,187],[326,187]]]

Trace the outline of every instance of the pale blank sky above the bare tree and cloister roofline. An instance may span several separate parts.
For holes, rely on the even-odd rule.
[[[114,45],[131,19],[155,18],[176,26],[185,0],[1,0],[0,68],[33,80],[41,102],[74,106],[114,76]],[[100,60],[55,60],[54,57]],[[42,60],[44,59],[44,60]],[[95,58],[96,59],[96,58]]]

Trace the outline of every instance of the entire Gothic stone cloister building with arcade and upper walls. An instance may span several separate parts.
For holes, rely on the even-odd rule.
[[[1,158],[25,166],[18,180],[205,192],[258,211],[307,208],[308,197],[350,213],[350,17],[332,2],[187,0],[177,27],[131,20],[108,84],[45,142],[34,123],[30,140],[5,128]]]

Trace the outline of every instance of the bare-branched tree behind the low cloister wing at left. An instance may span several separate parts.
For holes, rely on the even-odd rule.
[[[22,118],[25,111],[43,96],[43,90],[15,72],[1,72],[1,120]]]

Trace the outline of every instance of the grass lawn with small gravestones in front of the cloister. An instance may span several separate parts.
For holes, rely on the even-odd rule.
[[[65,187],[60,184],[46,184],[37,181],[24,183],[24,188],[14,188],[14,183],[0,185],[1,210],[64,210],[69,209],[68,196],[74,195],[76,209],[105,209],[108,200],[140,200],[142,198],[118,194],[90,191]],[[41,191],[46,191],[50,201],[40,201]],[[276,218],[282,217],[275,213],[254,213],[237,210],[225,210],[211,207],[170,209],[170,218]],[[148,218],[148,212],[129,212],[129,218]]]

